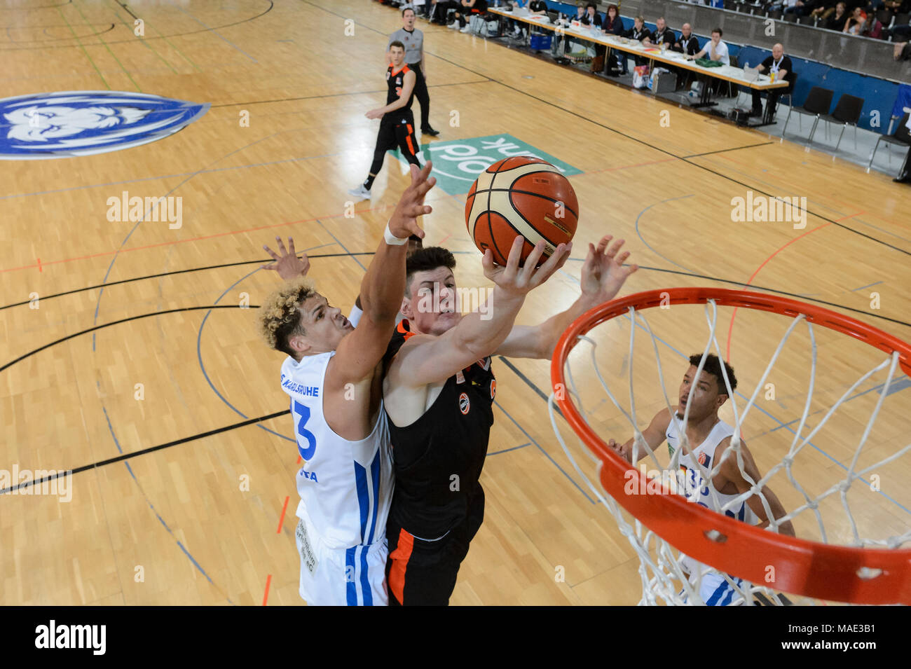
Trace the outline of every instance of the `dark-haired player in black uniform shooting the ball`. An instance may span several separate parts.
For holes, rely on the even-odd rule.
[[[565,261],[570,247],[535,270],[539,243],[522,268],[517,238],[507,267],[486,253],[496,287],[486,305],[455,310],[455,258],[429,247],[407,261],[402,314],[384,358],[384,408],[393,444],[395,491],[386,538],[390,604],[446,604],[459,565],[484,519],[479,482],[494,422],[496,379],[490,356],[549,359],[559,336],[588,309],[613,299],[636,266],[623,266],[623,240],[589,244],[582,295],[540,325],[514,325],[526,293]],[[485,319],[485,316],[489,318]]]

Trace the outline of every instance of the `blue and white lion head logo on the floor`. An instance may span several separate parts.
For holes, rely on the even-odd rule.
[[[209,110],[168,97],[67,91],[0,99],[0,159],[91,156],[168,137]]]

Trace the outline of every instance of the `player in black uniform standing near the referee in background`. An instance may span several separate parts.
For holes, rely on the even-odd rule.
[[[374,178],[383,168],[386,151],[390,149],[399,147],[405,160],[421,167],[417,160],[415,115],[411,111],[411,103],[415,99],[415,72],[404,63],[404,45],[401,42],[389,45],[389,58],[392,65],[386,69],[386,85],[389,86],[386,104],[371,109],[364,115],[383,120],[380,121],[380,132],[376,137],[370,174],[363,184],[348,191],[355,198],[370,199],[370,188],[373,188]]]

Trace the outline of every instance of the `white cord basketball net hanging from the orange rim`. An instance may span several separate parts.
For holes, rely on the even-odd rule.
[[[702,359],[700,361],[696,377],[698,378],[701,374],[702,368],[705,363],[706,355],[711,349],[711,345],[714,344],[714,349],[716,355],[723,360],[721,350],[718,345],[718,341],[715,339],[715,329],[718,320],[718,309],[715,303],[715,300],[710,299],[705,305],[705,317],[709,325],[709,339],[706,341],[705,348],[702,351]],[[626,411],[619,403],[615,397],[613,391],[609,388],[609,384],[604,380],[597,360],[595,359],[595,350],[597,348],[597,343],[594,340],[591,340],[586,336],[579,336],[578,341],[585,341],[590,346],[590,355],[591,355],[591,369],[595,371],[601,388],[608,394],[608,397],[613,402],[614,406],[626,417],[629,421],[630,426],[632,427],[634,435],[634,444],[633,444],[633,455],[632,461],[636,463],[639,461],[640,453],[646,453],[647,457],[650,458],[651,467],[654,470],[659,470],[662,473],[662,481],[670,481],[670,478],[676,479],[678,472],[680,471],[680,457],[681,452],[686,449],[689,451],[690,444],[687,441],[687,436],[685,430],[681,430],[681,426],[687,424],[690,413],[690,403],[687,403],[687,408],[684,412],[682,421],[672,421],[671,425],[676,425],[678,436],[681,443],[681,448],[676,449],[672,456],[670,457],[670,463],[667,467],[662,467],[660,462],[655,457],[655,452],[652,451],[648,443],[644,440],[642,432],[639,429],[639,425],[642,421],[642,418],[646,422],[650,420],[650,416],[640,417],[636,414],[636,401],[633,391],[633,360],[634,360],[634,344],[635,344],[635,335],[637,323],[639,326],[644,329],[650,335],[652,348],[655,353],[655,360],[658,363],[658,383],[660,385],[661,391],[664,396],[665,405],[670,411],[670,415],[674,415],[674,410],[670,405],[670,400],[668,398],[667,390],[665,389],[665,384],[663,381],[663,375],[661,373],[661,362],[660,355],[658,351],[658,343],[656,341],[655,335],[652,333],[649,326],[648,320],[644,317],[641,311],[638,311],[632,307],[629,309],[629,314],[627,316],[630,319],[630,372],[629,372],[629,385],[630,385],[630,411]],[[806,323],[807,329],[809,330],[809,337],[812,343],[812,364],[810,370],[810,380],[808,391],[806,395],[806,401],[804,403],[804,412],[801,416],[799,427],[793,433],[793,440],[791,441],[790,448],[787,451],[787,454],[783,459],[778,462],[773,468],[767,471],[763,478],[760,481],[753,481],[752,478],[744,471],[743,460],[742,460],[742,450],[741,450],[741,430],[742,425],[747,420],[747,417],[752,410],[757,397],[759,396],[760,390],[763,389],[765,380],[768,378],[769,373],[773,370],[775,361],[778,360],[779,354],[782,352],[785,343],[791,336],[793,330],[797,328],[800,323]],[[832,406],[825,412],[824,418],[819,422],[819,424],[814,428],[814,430],[809,431],[805,436],[801,436],[804,431],[804,424],[806,423],[807,416],[810,412],[811,400],[813,398],[814,391],[814,381],[816,379],[816,339],[814,336],[813,324],[809,322],[804,314],[799,314],[796,318],[793,319],[791,326],[784,332],[783,338],[778,344],[778,348],[775,350],[773,357],[769,360],[768,365],[763,372],[762,377],[756,384],[755,390],[752,392],[752,396],[746,402],[746,405],[742,408],[737,405],[737,395],[733,392],[731,388],[731,382],[728,379],[727,370],[724,369],[722,365],[722,375],[724,377],[725,387],[727,389],[727,394],[732,403],[732,410],[734,415],[734,433],[731,438],[731,445],[723,451],[722,457],[717,458],[715,466],[709,471],[704,466],[700,465],[701,476],[704,481],[711,481],[711,479],[721,471],[722,462],[728,458],[735,457],[738,467],[743,475],[743,478],[748,481],[752,488],[748,492],[744,492],[741,495],[737,496],[735,499],[722,504],[718,499],[717,492],[714,490],[714,487],[709,485],[709,491],[711,493],[711,498],[714,506],[714,510],[718,512],[725,512],[732,507],[739,507],[742,502],[752,495],[758,495],[763,504],[763,509],[765,510],[766,517],[769,519],[769,526],[766,528],[768,532],[778,532],[779,526],[783,522],[791,521],[793,518],[804,512],[813,512],[815,520],[819,527],[820,535],[822,536],[823,542],[828,542],[828,535],[826,533],[826,527],[823,520],[823,515],[819,510],[819,504],[824,499],[832,495],[840,495],[841,503],[844,508],[844,514],[847,521],[850,524],[851,532],[853,539],[848,545],[852,546],[877,546],[885,547],[890,549],[895,549],[901,547],[906,542],[911,542],[911,529],[906,532],[901,533],[900,535],[891,536],[885,540],[872,540],[864,538],[857,531],[857,525],[855,522],[855,516],[851,512],[851,508],[848,504],[847,493],[851,489],[852,484],[858,479],[864,479],[860,481],[859,485],[866,485],[865,477],[869,476],[871,472],[882,468],[884,465],[888,464],[891,461],[895,461],[897,458],[901,457],[907,451],[911,450],[911,444],[906,445],[904,448],[896,451],[895,453],[889,455],[888,457],[876,461],[874,464],[865,467],[864,469],[857,469],[857,461],[860,457],[861,451],[863,451],[866,443],[867,437],[870,434],[871,429],[876,421],[876,416],[879,414],[880,408],[883,405],[883,400],[885,400],[886,395],[889,392],[889,387],[893,384],[893,380],[896,375],[896,368],[898,366],[899,354],[897,352],[888,355],[885,360],[877,364],[873,369],[865,372],[860,379],[856,380],[855,383],[844,391],[844,394],[832,404]],[[882,387],[882,390],[879,393],[879,398],[876,401],[875,409],[872,411],[872,414],[869,417],[869,421],[866,422],[865,430],[860,437],[860,440],[857,443],[854,458],[851,461],[850,466],[847,469],[846,475],[842,481],[839,481],[832,485],[830,488],[825,490],[822,494],[812,497],[805,490],[804,487],[796,480],[793,475],[792,465],[794,459],[804,450],[804,447],[810,443],[814,436],[823,428],[825,423],[829,421],[835,411],[839,406],[844,403],[845,400],[852,396],[852,393],[861,386],[866,380],[872,377],[875,373],[888,369],[888,377],[885,380],[885,384]],[[565,378],[568,382],[568,390],[570,396],[575,400],[576,406],[578,407],[579,412],[585,416],[585,408],[583,406],[583,400],[581,395],[576,389],[576,383],[573,380],[572,371],[569,369],[569,362],[566,361],[564,365]],[[691,385],[691,394],[695,388],[695,383]],[[737,604],[754,604],[762,603],[765,605],[774,604],[774,605],[784,605],[788,602],[787,599],[784,599],[780,596],[779,592],[776,592],[770,587],[767,587],[762,584],[748,583],[745,580],[732,578],[729,574],[721,573],[719,571],[711,569],[710,566],[697,563],[692,560],[690,557],[684,555],[677,549],[675,549],[669,542],[661,539],[657,534],[651,532],[647,527],[645,527],[639,519],[632,518],[632,522],[628,522],[624,511],[621,506],[598,484],[593,484],[589,480],[589,477],[582,471],[579,467],[576,458],[573,457],[572,452],[567,446],[566,441],[564,441],[560,429],[557,424],[557,414],[554,411],[555,409],[555,395],[551,393],[549,398],[549,412],[550,412],[550,421],[553,425],[554,432],[557,434],[558,441],[563,451],[566,453],[569,461],[572,463],[574,469],[577,471],[578,475],[581,477],[582,481],[589,487],[589,490],[597,497],[597,499],[604,504],[604,507],[609,510],[613,515],[615,521],[619,526],[619,531],[622,533],[632,545],[633,549],[637,553],[640,560],[639,574],[642,583],[642,597],[640,600],[640,605],[657,605],[659,603],[665,604],[704,604],[703,599],[700,596],[701,586],[703,578],[710,577],[716,579],[715,583],[722,583],[721,579],[723,578],[724,582],[728,583],[732,589],[732,595],[728,596],[724,603],[731,605]],[[589,456],[589,459],[593,461],[599,468],[601,461],[595,456],[592,451],[585,445],[585,443],[578,439],[578,444],[582,450]],[[632,465],[635,466],[635,465]],[[784,470],[789,481],[791,481],[795,490],[800,492],[800,495],[804,499],[804,503],[797,508],[794,508],[792,511],[787,512],[786,515],[778,518],[777,520],[773,517],[772,510],[770,509],[769,502],[766,500],[765,495],[763,495],[762,489],[767,481],[772,479],[772,477],[778,471]],[[665,477],[664,475],[667,475]],[[700,483],[701,484],[701,483]],[[685,488],[685,484],[682,486]],[[687,573],[684,572],[684,569],[688,568],[690,576],[688,577]],[[875,574],[868,574],[874,576]],[[713,583],[712,583],[713,584]],[[757,601],[758,600],[758,601]],[[804,598],[801,603],[815,603],[814,600],[809,598]]]

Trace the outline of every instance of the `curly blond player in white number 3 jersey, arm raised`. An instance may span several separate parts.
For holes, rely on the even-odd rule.
[[[386,516],[394,475],[383,408],[383,355],[402,304],[405,242],[424,236],[416,218],[435,179],[428,162],[412,167],[412,185],[399,200],[384,241],[361,284],[363,317],[355,329],[340,309],[300,274],[309,267],[279,239],[276,262],[293,279],[265,300],[260,324],[270,347],[288,354],[281,390],[291,412],[303,466],[295,539],[301,557],[300,592],[308,604],[387,604]]]

